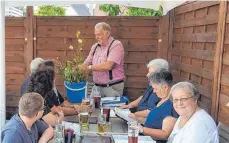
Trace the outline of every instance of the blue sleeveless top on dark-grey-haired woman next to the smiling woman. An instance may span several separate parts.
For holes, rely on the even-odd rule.
[[[174,110],[173,104],[169,99],[162,103],[159,107],[151,110],[144,126],[152,129],[162,129],[162,122],[168,116],[175,118],[178,118],[179,116]]]

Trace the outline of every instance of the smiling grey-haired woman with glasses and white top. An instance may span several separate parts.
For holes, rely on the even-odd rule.
[[[197,88],[190,82],[179,82],[170,93],[174,109],[180,117],[168,143],[218,143],[214,120],[197,105],[200,96]]]

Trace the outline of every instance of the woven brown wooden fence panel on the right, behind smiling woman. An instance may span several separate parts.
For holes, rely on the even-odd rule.
[[[198,104],[210,113],[219,2],[195,1],[174,9],[170,68],[175,81],[190,80],[200,90]]]

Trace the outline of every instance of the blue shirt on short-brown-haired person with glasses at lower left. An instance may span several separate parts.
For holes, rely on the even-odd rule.
[[[1,140],[2,143],[37,143],[39,135],[48,127],[48,124],[42,120],[37,120],[29,131],[19,115],[16,114],[3,127]]]

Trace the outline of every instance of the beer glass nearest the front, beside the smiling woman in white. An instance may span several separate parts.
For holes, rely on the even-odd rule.
[[[128,143],[138,143],[139,123],[128,122]]]

